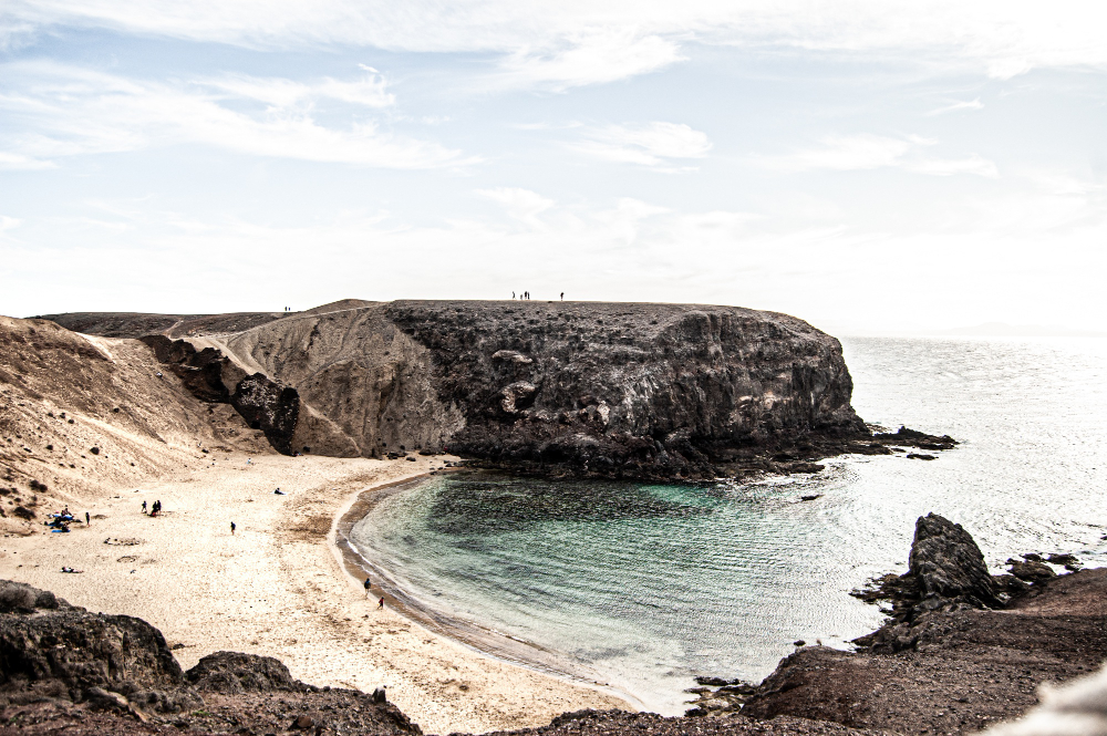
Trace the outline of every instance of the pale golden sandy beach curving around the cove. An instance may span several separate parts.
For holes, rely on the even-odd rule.
[[[442,458],[210,457],[174,477],[97,493],[83,501],[87,508],[73,504],[79,516],[92,514],[90,529],[7,536],[0,577],[91,611],[145,619],[184,667],[232,650],[276,656],[317,685],[385,685],[426,733],[538,726],[566,711],[628,707],[377,610],[376,597],[346,572],[332,543],[335,519],[362,491],[427,473]],[[163,515],[144,516],[144,500],[161,500]],[[82,572],[63,573],[63,566]]]

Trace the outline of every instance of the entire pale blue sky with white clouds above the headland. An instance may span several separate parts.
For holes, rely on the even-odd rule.
[[[0,313],[1101,330],[1105,37],[1064,0],[3,0]]]

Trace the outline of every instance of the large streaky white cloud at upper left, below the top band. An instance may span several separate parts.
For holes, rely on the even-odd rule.
[[[327,126],[299,101],[329,96],[360,105],[387,104],[379,76],[360,82],[228,77],[219,82],[154,83],[53,64],[4,68],[9,91],[0,111],[24,121],[9,138],[0,166],[42,167],[81,154],[200,144],[257,156],[426,168],[474,163],[436,143],[391,135],[372,122]],[[267,110],[248,114],[221,103],[251,100]]]

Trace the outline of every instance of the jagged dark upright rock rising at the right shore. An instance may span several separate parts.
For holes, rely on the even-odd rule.
[[[937,514],[919,517],[909,563],[922,595],[920,608],[932,610],[951,602],[972,608],[1000,605],[984,556],[960,524]]]

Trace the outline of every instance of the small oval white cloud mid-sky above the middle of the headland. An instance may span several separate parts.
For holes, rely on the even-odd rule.
[[[672,158],[702,158],[711,151],[705,133],[681,123],[653,122],[643,125],[608,125],[588,128],[575,151],[623,164],[658,166]]]

